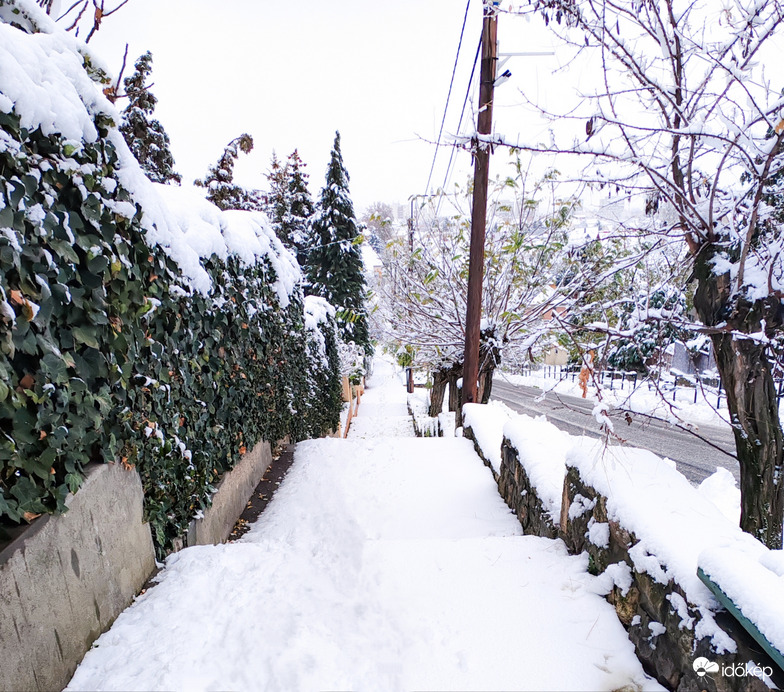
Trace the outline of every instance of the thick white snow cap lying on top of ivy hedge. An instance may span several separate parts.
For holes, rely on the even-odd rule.
[[[100,59],[32,0],[0,0],[0,111],[15,112],[27,129],[60,134],[79,150],[82,142],[98,139],[96,116],[120,122],[103,93],[106,75]],[[191,288],[210,292],[202,260],[212,254],[236,255],[246,264],[267,259],[281,306],[288,305],[300,271],[263,214],[221,212],[192,189],[153,184],[116,127],[108,140],[120,159],[117,179],[142,208],[148,241],[177,263]],[[136,210],[121,205],[115,211],[132,217]]]

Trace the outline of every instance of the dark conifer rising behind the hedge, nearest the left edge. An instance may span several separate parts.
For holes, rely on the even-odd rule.
[[[158,99],[147,86],[152,72],[152,53],[147,51],[134,66],[134,73],[123,81],[128,106],[122,113],[122,132],[142,170],[154,183],[180,183],[174,170],[174,157],[169,148],[169,135],[163,125],[152,117]]]

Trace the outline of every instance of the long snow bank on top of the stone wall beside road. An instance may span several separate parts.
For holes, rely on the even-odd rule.
[[[504,425],[503,434],[518,450],[520,463],[554,521],[561,515],[566,466],[573,466],[583,482],[607,498],[609,519],[637,537],[638,543],[629,550],[634,569],[660,584],[670,580],[678,584],[702,615],[695,629],[697,637],[711,637],[719,651],[735,650],[734,642],[715,623],[719,604],[697,576],[698,559],[703,551],[712,555],[709,549],[721,551],[727,546],[751,555],[772,553],[741,531],[737,521],[728,518],[737,516],[739,506],[739,493],[729,472],[720,469],[698,490],[669,460],[647,450],[574,437],[543,417],[515,415]],[[575,518],[589,508],[585,498],[578,496],[567,508],[568,515]],[[603,525],[595,524],[589,531],[595,544],[606,542]],[[751,566],[744,577],[746,563]],[[721,563],[716,560],[711,564]],[[754,563],[735,559],[733,564],[738,590],[752,588],[758,571]],[[744,587],[746,578],[748,585]],[[771,594],[777,592],[766,593],[767,601],[760,596],[759,607],[769,603]],[[673,607],[677,605],[673,602]],[[684,626],[694,626],[685,604],[682,610]],[[757,612],[756,606],[750,607],[750,612]],[[774,634],[778,631],[773,630]]]

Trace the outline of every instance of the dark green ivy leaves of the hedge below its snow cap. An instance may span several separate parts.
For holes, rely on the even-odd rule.
[[[0,522],[63,511],[88,463],[116,461],[164,554],[258,441],[337,427],[334,315],[306,328],[269,259],[212,256],[193,290],[94,122],[74,143],[0,112]]]

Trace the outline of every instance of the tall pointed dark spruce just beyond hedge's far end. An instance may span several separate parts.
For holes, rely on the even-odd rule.
[[[318,244],[308,255],[308,280],[310,291],[326,298],[337,309],[343,340],[353,341],[370,354],[361,236],[348,183],[348,172],[340,153],[340,133],[337,132],[326,185],[321,191],[313,223],[313,238]]]

